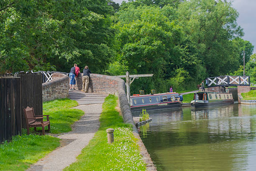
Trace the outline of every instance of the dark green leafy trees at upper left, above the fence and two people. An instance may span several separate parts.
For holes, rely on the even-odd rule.
[[[107,1],[13,0],[0,3],[0,72],[69,71],[78,63],[103,73],[113,58]]]

